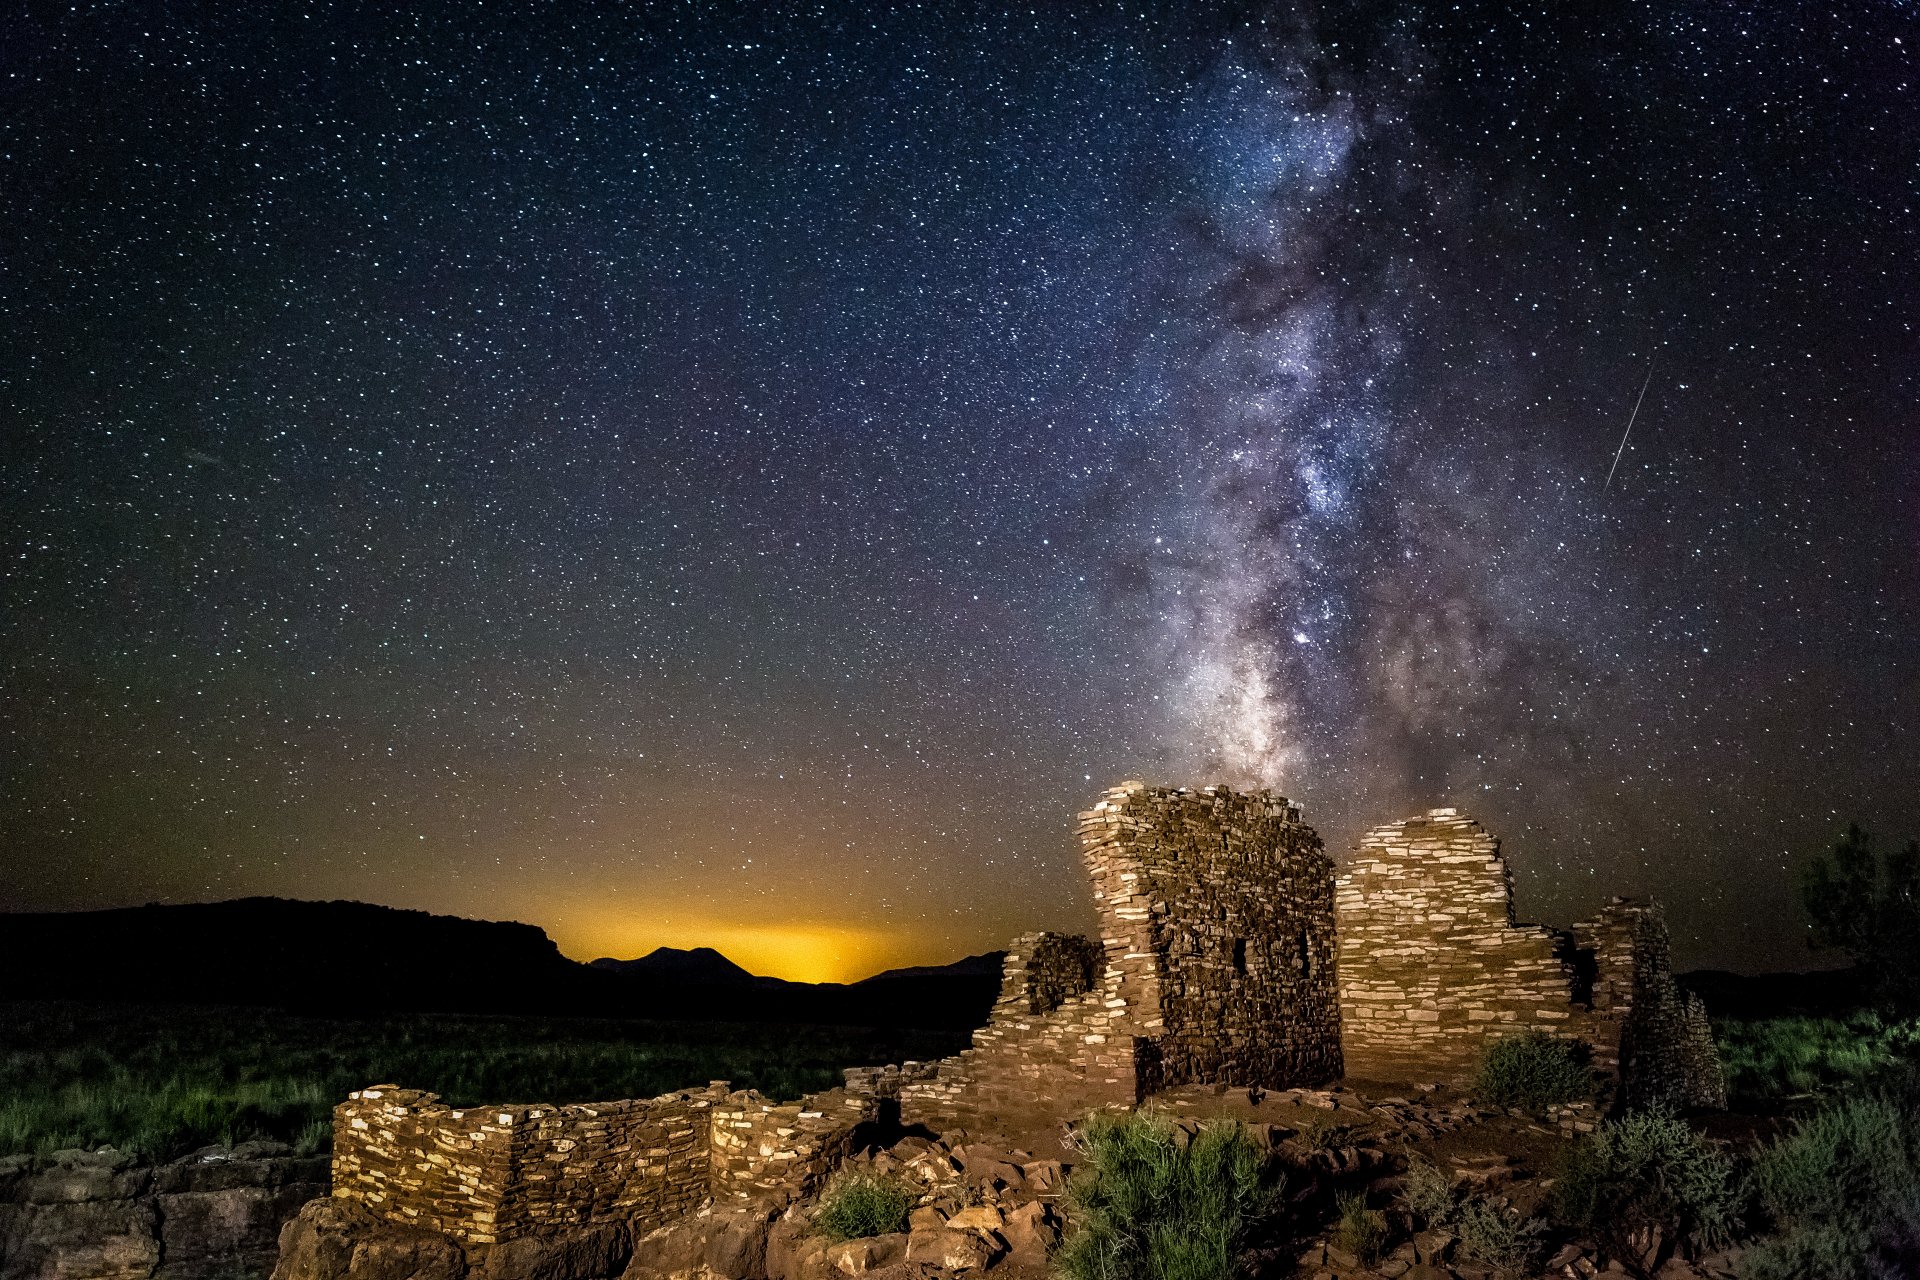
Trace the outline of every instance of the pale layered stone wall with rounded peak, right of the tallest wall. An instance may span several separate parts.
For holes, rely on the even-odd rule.
[[[1574,1021],[1559,935],[1515,925],[1500,842],[1459,810],[1361,837],[1334,915],[1348,1075],[1459,1079],[1490,1036]]]

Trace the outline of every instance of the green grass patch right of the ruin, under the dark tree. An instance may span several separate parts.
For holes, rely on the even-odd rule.
[[[1920,1019],[1872,1009],[1845,1017],[1716,1019],[1734,1105],[1776,1105],[1889,1080],[1920,1063]]]

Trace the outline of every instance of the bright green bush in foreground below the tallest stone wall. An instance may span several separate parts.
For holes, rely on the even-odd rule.
[[[1096,1113],[1068,1182],[1071,1234],[1054,1253],[1068,1280],[1227,1280],[1254,1221],[1277,1199],[1267,1161],[1229,1121],[1183,1142],[1154,1111]]]

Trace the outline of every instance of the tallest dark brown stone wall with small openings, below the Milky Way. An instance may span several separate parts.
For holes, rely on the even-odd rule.
[[[1079,837],[1156,1088],[1340,1075],[1332,860],[1298,808],[1121,783]]]

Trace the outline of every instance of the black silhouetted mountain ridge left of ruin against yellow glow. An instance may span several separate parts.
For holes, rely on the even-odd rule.
[[[991,973],[970,956],[852,984],[787,983],[708,946],[584,965],[536,925],[367,902],[0,913],[0,1000],[977,1027],[998,992],[996,954]]]

